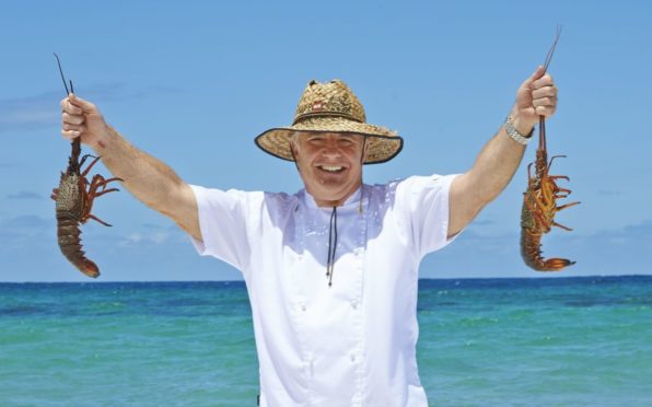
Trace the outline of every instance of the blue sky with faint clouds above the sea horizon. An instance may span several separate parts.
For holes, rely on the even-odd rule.
[[[0,281],[89,281],[57,247],[49,199],[70,152],[53,53],[79,96],[186,182],[294,193],[294,165],[253,140],[291,124],[310,80],[346,81],[369,123],[405,138],[396,159],[365,167],[366,183],[462,173],[544,61],[558,24],[548,151],[567,155],[552,173],[570,177],[560,185],[582,203],[558,213],[573,231],[544,236],[544,255],[577,260],[555,276],[650,275],[651,9],[644,0],[4,2]],[[535,147],[502,195],[426,257],[422,278],[544,276],[519,248]],[[82,226],[100,281],[241,278],[198,256],[172,221],[127,191],[98,198],[93,213],[113,224]]]

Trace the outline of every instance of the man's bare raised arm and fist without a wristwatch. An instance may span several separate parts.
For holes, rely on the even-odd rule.
[[[170,166],[131,146],[92,103],[71,94],[61,101],[61,109],[63,137],[81,137],[135,197],[201,240],[195,195]]]

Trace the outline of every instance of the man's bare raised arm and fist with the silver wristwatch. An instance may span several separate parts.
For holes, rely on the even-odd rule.
[[[557,108],[557,88],[543,67],[526,79],[516,92],[510,113],[515,129],[529,135],[539,116],[550,117]],[[480,210],[507,187],[516,172],[525,146],[514,141],[503,125],[485,144],[470,171],[451,186],[449,236],[457,234]]]

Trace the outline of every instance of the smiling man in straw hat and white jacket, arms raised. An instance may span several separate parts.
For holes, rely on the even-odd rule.
[[[312,81],[293,125],[256,138],[295,162],[305,189],[294,195],[190,186],[93,104],[70,95],[61,106],[66,138],[81,137],[199,253],[242,270],[263,406],[427,406],[416,363],[419,261],[508,185],[539,115],[555,113],[557,89],[539,67],[468,172],[370,186],[363,163],[391,160],[403,139],[366,124],[344,82]]]

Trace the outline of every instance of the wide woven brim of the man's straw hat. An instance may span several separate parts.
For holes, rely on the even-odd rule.
[[[403,149],[403,138],[384,127],[348,120],[341,117],[308,117],[291,127],[264,131],[255,142],[263,151],[287,161],[294,161],[290,139],[295,132],[338,132],[366,137],[364,164],[380,164],[395,158]]]

